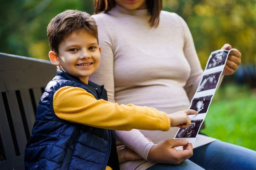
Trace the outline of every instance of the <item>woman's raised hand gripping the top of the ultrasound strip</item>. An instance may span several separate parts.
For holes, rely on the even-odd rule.
[[[225,44],[221,50],[231,50],[231,45],[229,44]],[[239,65],[241,64],[241,53],[236,50],[236,49],[232,49],[232,51],[230,51],[229,56],[228,56],[228,60],[226,62],[225,68],[223,70],[223,75],[232,75],[236,72],[236,70],[238,69]]]

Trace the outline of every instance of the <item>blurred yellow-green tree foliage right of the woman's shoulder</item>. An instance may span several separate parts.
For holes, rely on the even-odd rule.
[[[183,17],[194,37],[204,68],[211,51],[224,43],[242,53],[242,63],[256,64],[256,0],[163,0],[164,10]]]

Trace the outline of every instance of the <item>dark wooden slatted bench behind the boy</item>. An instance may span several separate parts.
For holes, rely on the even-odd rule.
[[[55,74],[47,60],[0,53],[0,170],[24,170],[37,104]]]

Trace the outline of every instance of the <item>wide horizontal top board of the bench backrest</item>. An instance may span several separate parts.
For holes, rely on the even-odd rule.
[[[0,90],[40,88],[56,75],[56,67],[49,61],[39,62],[41,60],[4,53],[0,53],[0,61],[0,77],[4,82]]]

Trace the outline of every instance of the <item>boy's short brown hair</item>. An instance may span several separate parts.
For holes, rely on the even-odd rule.
[[[47,36],[52,51],[59,53],[59,44],[73,32],[86,31],[98,41],[98,28],[95,20],[86,12],[66,10],[52,18],[47,26]]]

